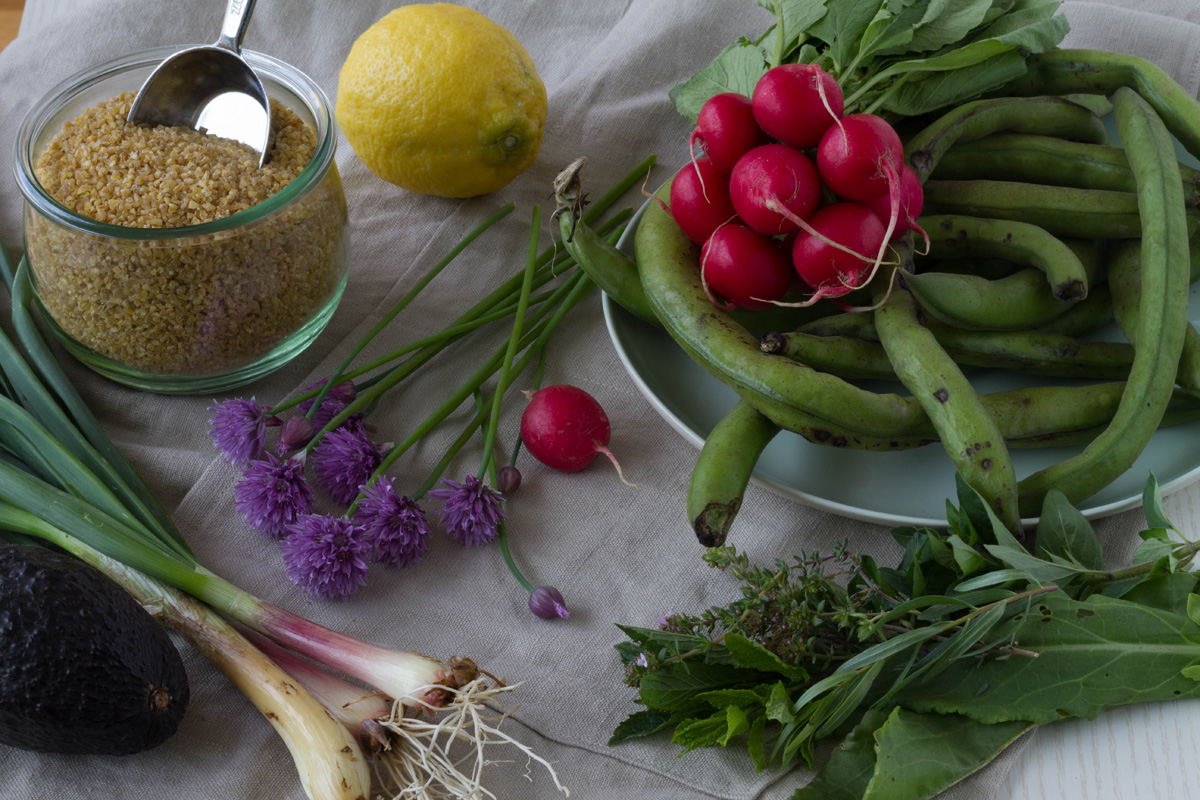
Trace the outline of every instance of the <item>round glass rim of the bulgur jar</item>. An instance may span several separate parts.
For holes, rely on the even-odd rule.
[[[35,139],[42,132],[47,121],[88,88],[122,72],[144,66],[154,67],[167,56],[178,53],[185,47],[192,46],[156,47],[103,61],[74,73],[46,92],[25,114],[18,128],[16,140],[14,172],[17,186],[24,196],[25,201],[37,209],[42,216],[77,230],[110,239],[161,241],[190,239],[241,228],[287,207],[319,185],[322,178],[324,178],[334,163],[337,143],[337,128],[334,124],[334,114],[329,98],[312,78],[290,64],[263,53],[244,49],[241,55],[251,67],[264,78],[280,84],[305,103],[317,126],[317,149],[312,158],[300,174],[277,193],[248,209],[200,224],[175,228],[131,228],[108,224],[72,211],[46,191],[34,172],[32,150]]]

